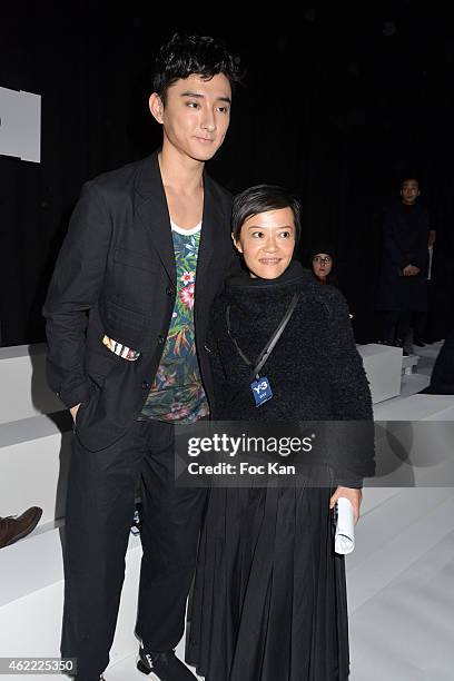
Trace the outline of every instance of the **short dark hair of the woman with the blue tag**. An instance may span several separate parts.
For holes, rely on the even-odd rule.
[[[290,208],[295,221],[295,243],[298,243],[302,224],[298,200],[283,187],[277,185],[256,185],[237,194],[231,209],[231,233],[235,239],[239,238],[245,221],[260,213]]]

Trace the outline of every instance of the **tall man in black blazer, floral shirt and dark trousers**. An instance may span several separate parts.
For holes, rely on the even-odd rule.
[[[45,304],[49,383],[75,421],[61,651],[78,680],[102,678],[109,661],[138,478],[138,668],[194,680],[174,649],[205,493],[175,486],[174,430],[209,414],[208,315],[237,266],[230,196],[204,170],[237,80],[211,38],[162,46],[149,100],[162,147],[85,185]]]

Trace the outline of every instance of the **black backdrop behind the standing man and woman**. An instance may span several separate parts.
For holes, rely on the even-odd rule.
[[[3,345],[45,338],[40,310],[81,184],[159,144],[150,67],[176,29],[224,38],[247,69],[210,174],[233,191],[266,181],[297,194],[303,256],[320,235],[335,244],[359,342],[374,338],[383,207],[403,176],[421,178],[437,229],[431,334],[444,337],[454,293],[454,33],[441,6],[362,6],[303,3],[298,16],[282,6],[254,21],[227,6],[165,20],[166,7],[157,18],[140,2],[117,14],[88,1],[3,14],[0,86],[42,96],[41,164],[0,157]],[[201,10],[213,20],[198,21]]]

